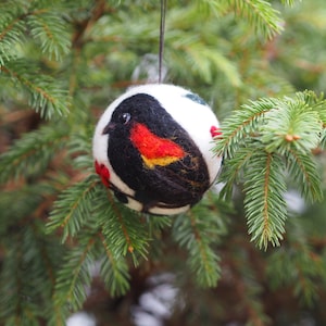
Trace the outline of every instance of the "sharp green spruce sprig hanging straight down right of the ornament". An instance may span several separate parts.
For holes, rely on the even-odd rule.
[[[244,181],[244,210],[251,240],[260,248],[278,246],[285,233],[287,204],[283,161],[277,154],[259,152],[251,156]]]

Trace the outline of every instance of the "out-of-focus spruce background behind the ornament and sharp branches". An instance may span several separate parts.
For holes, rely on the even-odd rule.
[[[55,155],[46,163],[32,160],[25,166],[26,178],[4,178],[0,192],[0,325],[48,325],[53,308],[47,301],[51,301],[53,280],[39,275],[38,264],[45,262],[45,255],[34,248],[39,249],[40,243],[48,248],[51,242],[49,264],[55,275],[55,262],[65,249],[60,230],[45,231],[49,212],[66,185],[87,176],[72,160],[79,152],[91,152],[95,124],[103,110],[127,87],[158,80],[161,9],[160,1],[142,0],[14,2],[0,4],[0,152],[47,125],[52,115],[58,133],[67,125],[68,135],[74,136],[64,131],[60,143],[50,142],[58,148]],[[266,38],[264,20],[250,13],[254,5],[167,1],[164,83],[200,95],[222,122],[248,100],[305,89],[325,91],[325,0],[268,2],[279,11],[275,12],[276,27],[272,27],[283,29],[271,38]],[[25,22],[34,15],[39,21]],[[54,30],[49,37],[52,43],[47,46],[35,24]],[[13,35],[7,43],[8,30]],[[40,79],[41,75],[48,77]],[[40,88],[43,92],[38,92]],[[42,111],[39,102],[51,102],[47,95],[53,95],[57,106],[51,109],[48,103]],[[55,117],[66,106],[68,117]],[[84,143],[88,147],[83,148]],[[72,150],[72,145],[82,149]],[[316,151],[316,156],[324,163],[323,152]],[[15,170],[12,160],[10,171]],[[216,287],[201,288],[193,280],[185,264],[187,253],[173,241],[167,227],[160,234],[158,253],[151,253],[138,268],[130,267],[126,294],[112,297],[93,264],[83,309],[67,325],[326,325],[326,202],[309,205],[294,188],[286,200],[285,239],[279,248],[266,251],[250,242],[241,192],[231,202],[216,201],[221,214],[212,246],[220,258]],[[32,227],[28,234],[24,233],[27,226]],[[67,244],[72,246],[74,240]]]

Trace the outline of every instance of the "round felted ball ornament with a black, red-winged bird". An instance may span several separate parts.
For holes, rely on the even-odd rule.
[[[98,122],[96,172],[130,209],[158,215],[185,212],[221,168],[222,158],[212,152],[218,126],[211,108],[189,90],[136,86],[113,101]]]

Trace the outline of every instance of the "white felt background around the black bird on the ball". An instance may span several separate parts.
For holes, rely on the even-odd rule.
[[[102,130],[108,125],[111,115],[115,108],[126,98],[136,93],[148,93],[154,97],[161,105],[173,116],[173,118],[188,131],[198,148],[200,149],[204,160],[206,161],[210,183],[212,184],[221,168],[222,158],[216,158],[213,152],[213,139],[211,135],[211,127],[220,127],[220,123],[211,110],[210,106],[195,102],[193,100],[185,97],[190,93],[190,90],[185,88],[166,85],[166,84],[151,84],[141,85],[129,88],[125,93],[113,101],[102,114],[99,123],[96,127],[93,136],[93,158],[100,164],[104,164],[111,174],[111,181],[118,187],[123,192],[127,195],[134,195],[135,192],[124,184],[121,178],[113,172],[112,166],[108,160],[108,140],[109,135],[102,135]],[[136,210],[140,209],[139,203],[133,201],[129,206]],[[185,211],[187,208],[178,209]],[[154,209],[153,209],[154,210]],[[159,210],[159,209],[158,209]],[[171,210],[168,210],[171,214]],[[162,212],[152,213],[165,214]]]

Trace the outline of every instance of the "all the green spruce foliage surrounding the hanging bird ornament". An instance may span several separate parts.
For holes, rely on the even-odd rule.
[[[166,83],[211,103],[224,156],[218,187],[173,217],[116,202],[91,158],[105,106],[156,77],[159,1],[1,2],[1,325],[65,325],[95,284],[118,306],[163,272],[185,293],[179,325],[326,321],[323,1],[168,1]]]

